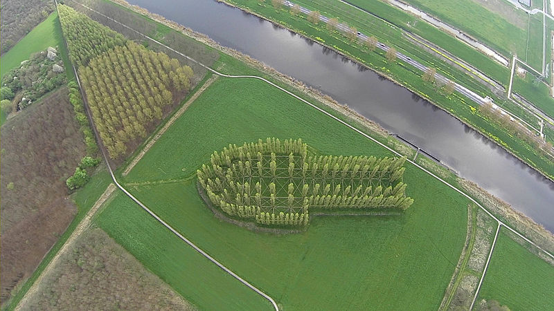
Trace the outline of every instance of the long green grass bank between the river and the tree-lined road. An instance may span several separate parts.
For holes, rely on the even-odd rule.
[[[506,129],[502,129],[501,125],[497,122],[493,122],[481,115],[479,112],[479,104],[476,104],[456,92],[451,95],[446,95],[435,84],[424,82],[422,80],[423,73],[413,66],[404,64],[404,62],[399,60],[392,63],[387,62],[382,50],[376,49],[372,52],[361,44],[353,44],[338,32],[330,32],[327,30],[323,23],[314,25],[308,22],[305,15],[301,14],[299,16],[294,16],[285,9],[275,10],[269,3],[260,5],[258,2],[248,0],[226,1],[230,3],[240,3],[241,8],[256,12],[267,19],[283,24],[298,33],[311,37],[321,44],[330,46],[335,50],[339,50],[352,59],[356,59],[358,62],[366,64],[366,66],[391,77],[391,79],[394,79],[397,83],[409,88],[411,91],[430,100],[448,113],[455,115],[458,119],[474,127],[474,129],[490,138],[490,140],[497,142],[497,144],[514,153],[521,158],[521,160],[535,167],[546,176],[554,178],[554,163],[552,160],[548,159],[544,154],[537,152],[533,146],[524,142],[524,140],[511,135]],[[372,34],[374,33],[373,31],[375,30],[368,33]],[[418,58],[415,57],[414,59]],[[422,61],[421,59],[418,60]],[[515,104],[510,104],[510,102],[502,103],[497,100],[495,100],[495,102],[508,110],[514,109],[515,106]],[[535,119],[535,122],[536,121]]]

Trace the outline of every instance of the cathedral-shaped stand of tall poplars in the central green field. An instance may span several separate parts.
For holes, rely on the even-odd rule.
[[[405,158],[308,155],[302,140],[267,138],[215,151],[197,176],[209,200],[258,225],[300,226],[312,211],[403,211]]]

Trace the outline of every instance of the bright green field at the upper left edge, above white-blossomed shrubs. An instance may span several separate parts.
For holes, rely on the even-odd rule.
[[[24,60],[29,59],[31,54],[46,50],[48,46],[60,46],[62,33],[59,25],[57,13],[53,12],[8,52],[4,53],[0,59],[0,78],[8,71],[19,66]]]

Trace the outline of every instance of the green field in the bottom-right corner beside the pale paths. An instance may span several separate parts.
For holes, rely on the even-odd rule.
[[[479,292],[510,310],[554,310],[554,267],[513,241],[501,229]]]

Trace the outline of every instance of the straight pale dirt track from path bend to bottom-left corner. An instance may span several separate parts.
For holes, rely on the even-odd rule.
[[[96,200],[96,202],[94,203],[93,207],[91,207],[91,209],[89,210],[87,215],[85,215],[82,218],[79,225],[77,225],[77,227],[75,227],[75,230],[73,230],[73,233],[71,234],[71,236],[69,236],[69,238],[67,238],[67,241],[65,241],[62,248],[60,248],[60,250],[55,254],[54,258],[52,258],[50,263],[48,263],[48,265],[46,265],[46,267],[44,267],[44,270],[41,272],[39,277],[35,280],[35,283],[33,283],[33,285],[29,288],[29,290],[23,296],[21,301],[19,301],[19,303],[17,304],[17,307],[15,307],[15,310],[21,310],[21,308],[24,307],[24,305],[25,305],[26,301],[29,299],[29,297],[33,296],[33,294],[35,294],[35,292],[37,292],[37,289],[39,288],[40,284],[42,283],[42,280],[44,279],[44,276],[46,276],[46,274],[48,274],[48,271],[50,271],[53,267],[55,267],[55,265],[57,264],[57,261],[59,261],[62,254],[64,254],[64,252],[66,252],[67,249],[69,249],[71,247],[71,245],[74,243],[75,239],[80,234],[82,234],[82,232],[84,232],[84,230],[86,230],[89,227],[89,225],[91,223],[92,216],[94,214],[96,214],[96,211],[98,211],[100,206],[102,206],[102,204],[109,198],[109,196],[111,196],[111,194],[114,193],[115,189],[116,189],[116,186],[114,184],[109,184],[109,186],[106,188],[106,190],[104,191],[102,196],[100,196],[100,198],[98,198],[98,200]]]

